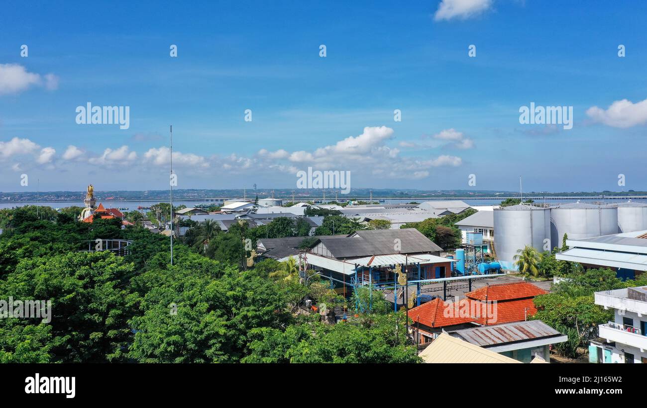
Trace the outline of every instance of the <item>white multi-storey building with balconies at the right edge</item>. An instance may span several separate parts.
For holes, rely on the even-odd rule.
[[[613,309],[589,345],[591,363],[647,363],[647,286],[595,293],[595,303]]]

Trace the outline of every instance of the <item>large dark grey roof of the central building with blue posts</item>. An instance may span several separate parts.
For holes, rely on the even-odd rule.
[[[338,259],[393,254],[397,252],[395,250],[395,240],[400,240],[399,252],[402,254],[439,252],[443,250],[419,230],[413,228],[359,230],[344,239],[320,239],[333,257]]]

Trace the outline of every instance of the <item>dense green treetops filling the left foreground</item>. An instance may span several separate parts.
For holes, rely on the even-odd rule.
[[[190,229],[171,266],[168,237],[122,229],[118,219],[82,223],[78,209],[33,206],[1,214],[0,299],[51,301],[52,314],[49,322],[0,318],[0,362],[417,361],[415,347],[404,345],[404,318],[387,313],[380,294],[379,313],[353,321],[303,316],[306,296],[331,310],[352,309],[353,301],[313,271],[304,285],[294,259],[248,267],[258,229],[245,222],[227,232],[204,223]],[[278,219],[269,231],[301,235],[305,225]],[[123,257],[88,252],[96,238],[133,244]]]

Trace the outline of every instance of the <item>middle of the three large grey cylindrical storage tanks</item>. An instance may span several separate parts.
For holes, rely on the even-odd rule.
[[[551,208],[551,247],[561,247],[564,234],[569,240],[617,234],[618,209],[610,205],[567,203]]]

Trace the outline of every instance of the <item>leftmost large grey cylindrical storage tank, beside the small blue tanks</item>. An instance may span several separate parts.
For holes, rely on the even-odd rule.
[[[542,252],[550,236],[550,209],[525,204],[494,209],[494,250],[503,269],[516,269],[514,256],[526,245]]]

